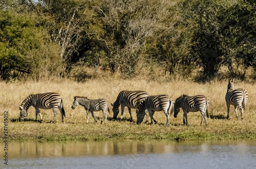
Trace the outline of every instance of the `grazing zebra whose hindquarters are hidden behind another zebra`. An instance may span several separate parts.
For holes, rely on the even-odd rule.
[[[127,106],[129,110],[129,114],[131,116],[131,122],[133,120],[131,108],[137,108],[138,105],[148,97],[148,94],[144,91],[121,91],[114,104],[111,103],[113,106],[113,119],[117,118],[119,114],[119,105],[121,104],[121,120],[123,118],[123,110],[124,107]],[[148,119],[148,116],[147,116]]]

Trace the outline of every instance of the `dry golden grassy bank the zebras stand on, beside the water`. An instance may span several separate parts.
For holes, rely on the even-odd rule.
[[[255,104],[256,85],[235,81],[236,88],[244,88],[248,94],[248,102],[244,120],[236,119],[233,106],[230,108],[230,120],[226,119],[227,108],[225,94],[227,80],[198,84],[191,81],[174,80],[157,82],[146,80],[94,79],[85,83],[70,80],[46,82],[0,83],[0,115],[4,119],[4,111],[8,110],[8,135],[10,141],[16,140],[115,140],[115,139],[168,139],[168,140],[209,140],[209,139],[256,139]],[[102,112],[95,112],[97,123],[90,115],[86,124],[86,111],[82,106],[72,110],[74,96],[87,96],[90,99],[105,98],[109,105],[116,100],[122,90],[144,90],[151,95],[167,94],[174,100],[182,94],[206,95],[210,100],[208,127],[201,122],[200,112],[189,112],[188,126],[183,126],[183,112],[177,118],[170,117],[170,126],[166,127],[166,117],[162,111],[156,112],[154,118],[158,124],[136,125],[135,109],[132,110],[133,122],[127,108],[124,110],[123,121],[112,121],[113,112],[108,115],[108,122],[100,124]],[[63,97],[66,111],[65,122],[61,123],[58,111],[57,121],[49,123],[53,118],[52,109],[41,110],[43,123],[34,122],[35,109],[28,110],[25,122],[18,122],[19,105],[29,95],[35,93],[57,92]],[[111,105],[110,105],[111,108]],[[111,108],[112,109],[112,108]],[[118,115],[120,118],[120,114]],[[4,128],[4,121],[0,124]],[[4,133],[4,131],[2,132]],[[4,139],[1,134],[0,139]]]

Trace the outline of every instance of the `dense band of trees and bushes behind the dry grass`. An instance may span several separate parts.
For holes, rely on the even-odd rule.
[[[222,66],[241,79],[248,67],[256,70],[254,1],[6,0],[0,6],[3,80],[69,77],[74,70],[91,77],[84,67],[123,78],[158,67],[165,76],[196,72],[199,81],[214,79]]]

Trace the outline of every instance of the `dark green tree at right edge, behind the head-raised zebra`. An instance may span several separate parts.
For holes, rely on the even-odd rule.
[[[219,16],[222,49],[231,77],[244,78],[249,66],[255,67],[256,5],[253,1],[239,1]],[[239,67],[244,71],[240,75]]]

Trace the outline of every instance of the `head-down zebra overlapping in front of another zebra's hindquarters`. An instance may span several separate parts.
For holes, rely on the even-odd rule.
[[[170,112],[170,110],[172,111]],[[136,109],[137,113],[137,124],[140,124],[145,114],[149,113],[151,118],[151,124],[153,121],[155,123],[156,120],[153,118],[155,111],[162,111],[164,112],[167,122],[166,124],[169,126],[169,115],[172,115],[174,110],[174,101],[169,98],[167,95],[156,95],[156,96],[148,96]],[[147,119],[146,122],[147,123]]]

